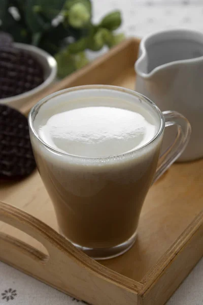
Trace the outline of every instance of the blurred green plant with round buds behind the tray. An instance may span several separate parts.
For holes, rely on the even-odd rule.
[[[123,39],[114,31],[121,24],[119,11],[92,23],[90,0],[1,0],[0,30],[15,42],[38,46],[54,55],[58,75],[64,77],[87,64],[85,49],[112,47]]]

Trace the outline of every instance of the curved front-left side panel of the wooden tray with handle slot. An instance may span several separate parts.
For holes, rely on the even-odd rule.
[[[42,221],[1,201],[0,221],[41,242],[49,254],[1,233],[0,260],[90,304],[138,304],[142,284],[101,266]]]

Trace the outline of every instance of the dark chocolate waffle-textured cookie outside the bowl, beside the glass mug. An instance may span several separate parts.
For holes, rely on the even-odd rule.
[[[27,118],[0,104],[0,178],[22,178],[35,168]]]

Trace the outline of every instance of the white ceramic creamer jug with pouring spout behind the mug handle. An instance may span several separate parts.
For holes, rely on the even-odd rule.
[[[190,121],[191,138],[178,161],[203,157],[203,34],[177,29],[145,37],[135,69],[137,92]],[[164,146],[172,137],[167,134]]]

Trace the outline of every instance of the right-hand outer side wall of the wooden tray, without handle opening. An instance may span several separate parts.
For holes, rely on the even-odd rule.
[[[140,304],[151,304],[149,299],[157,305],[165,303],[202,256],[203,210],[142,279],[144,286],[139,291]],[[178,269],[182,271],[177,274]],[[165,287],[169,287],[167,293]]]

